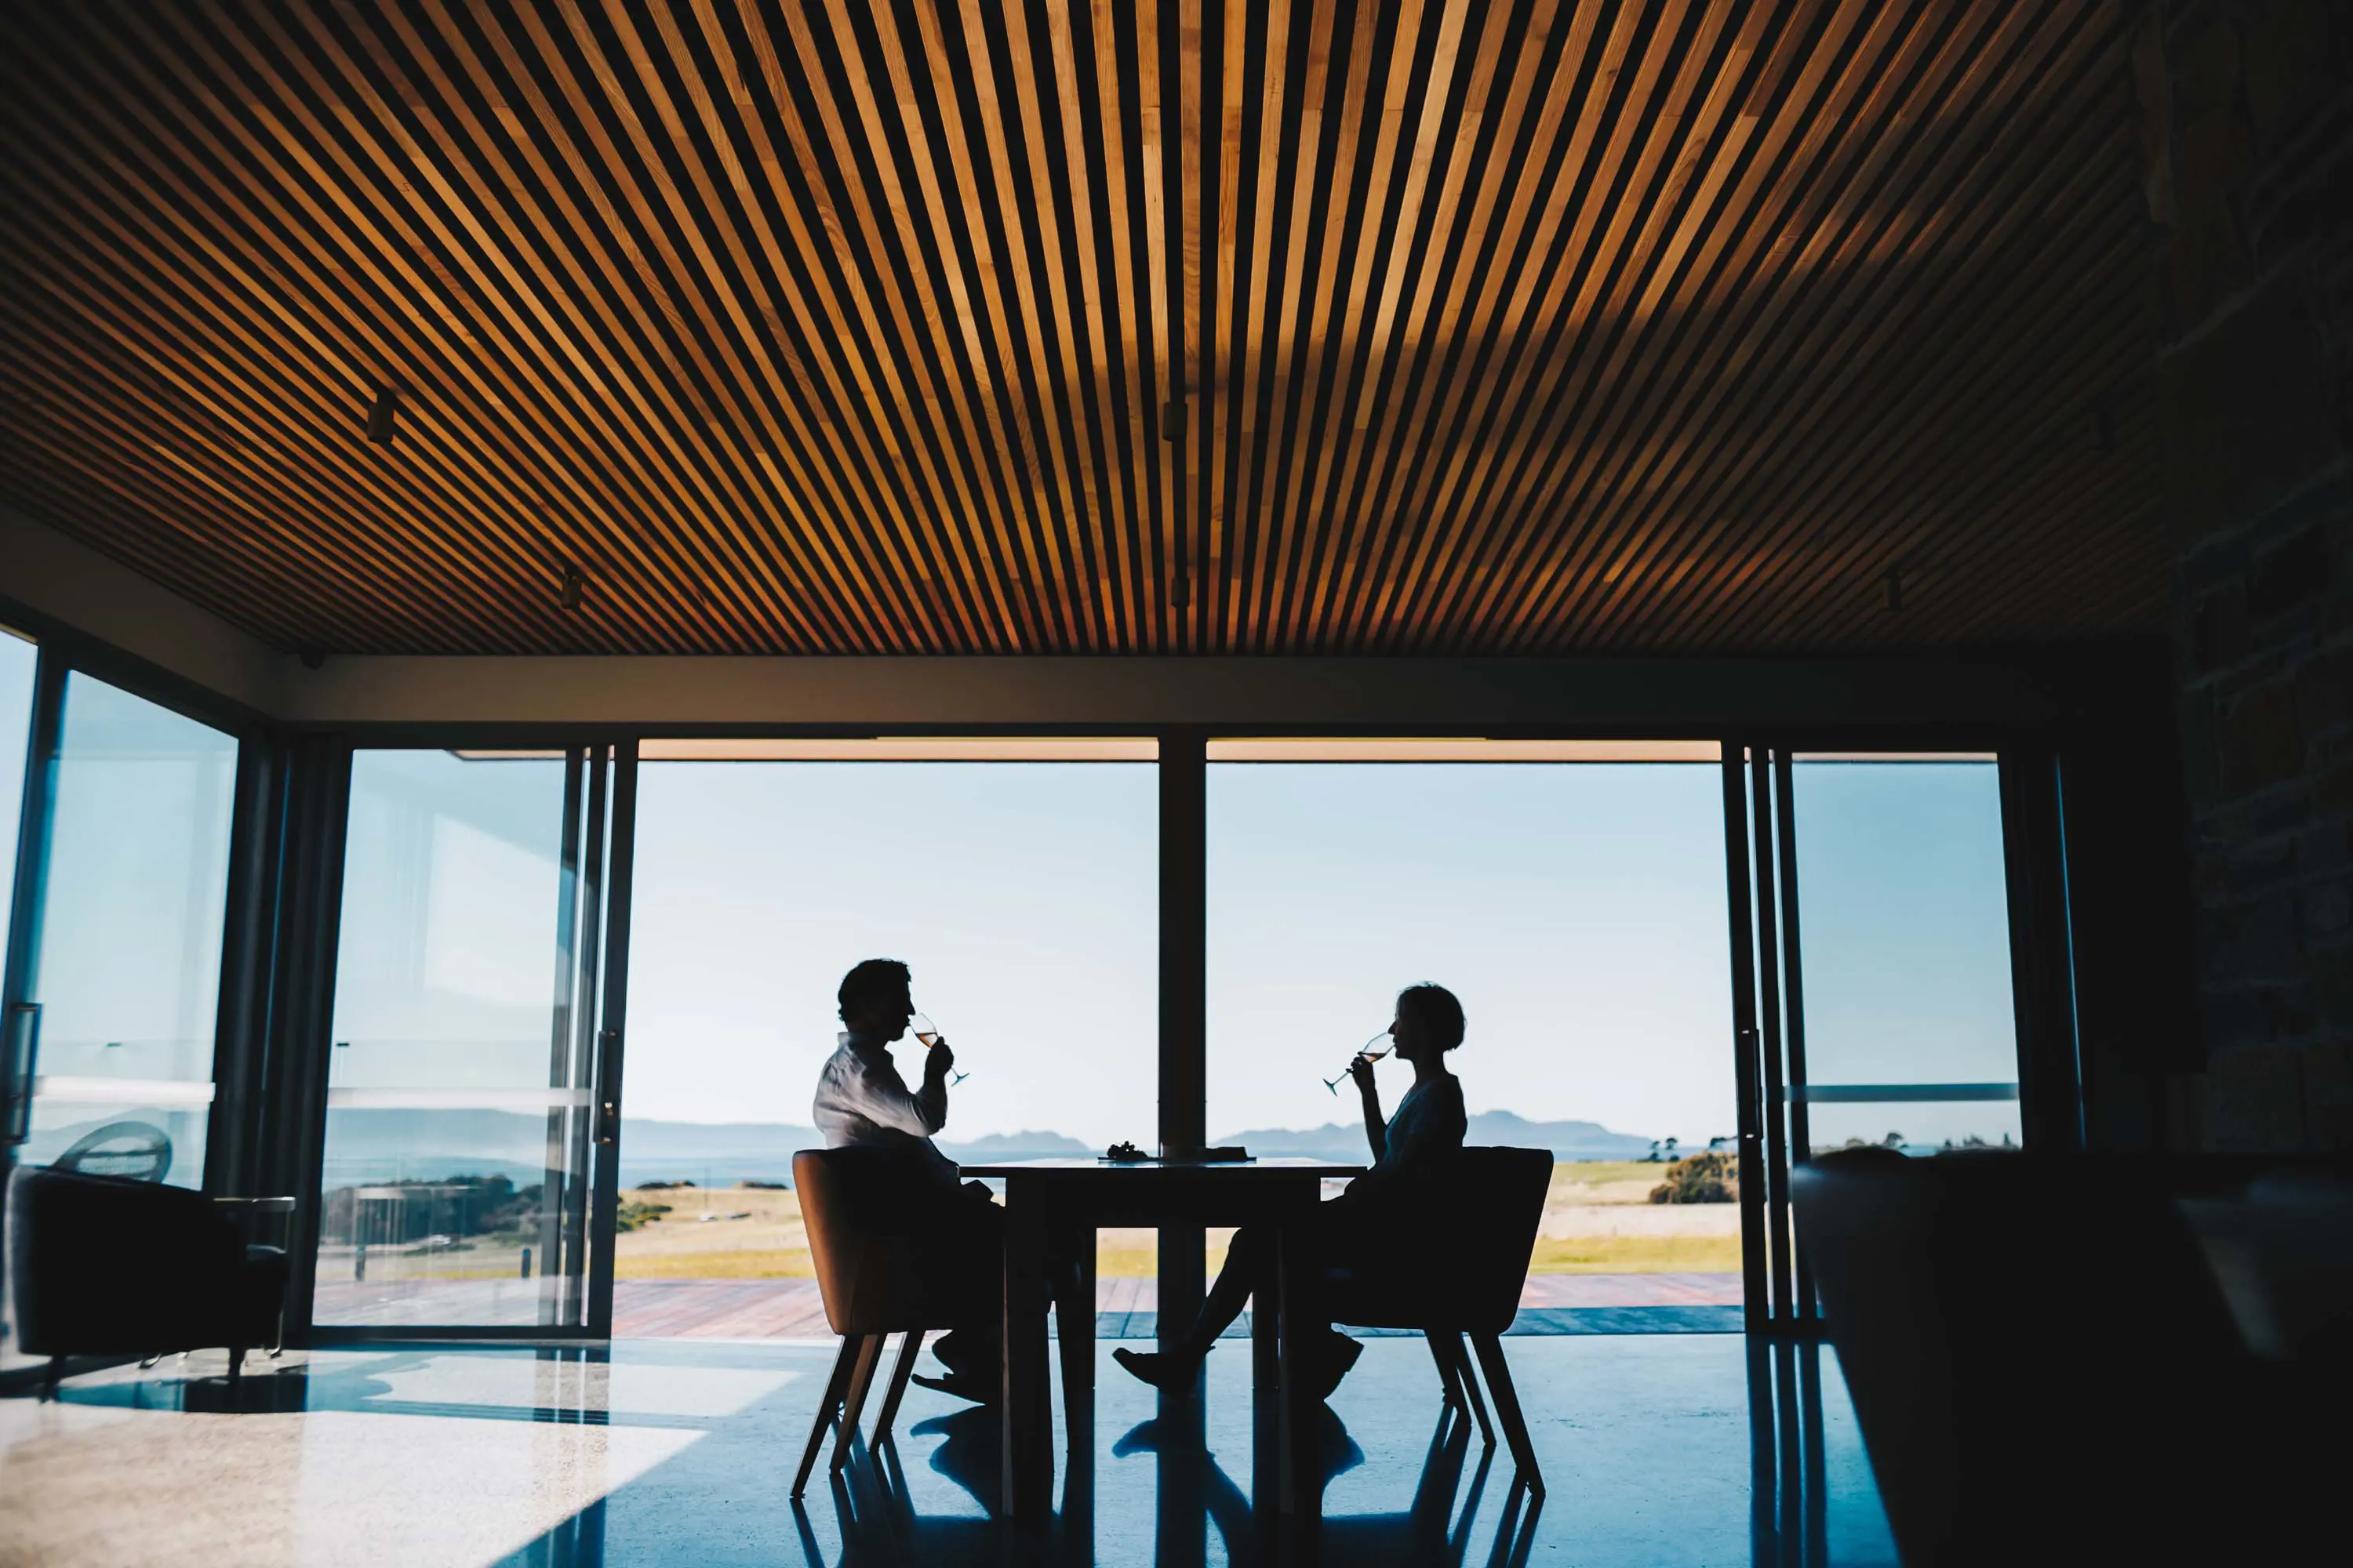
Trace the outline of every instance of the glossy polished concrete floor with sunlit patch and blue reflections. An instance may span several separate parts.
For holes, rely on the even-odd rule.
[[[1369,1340],[1322,1432],[1322,1561],[1892,1563],[1828,1349],[1739,1335],[1513,1338],[1548,1495],[1440,1425],[1419,1340]],[[802,1507],[831,1342],[289,1354],[226,1408],[219,1356],[0,1401],[0,1563],[1254,1563],[1247,1352],[1198,1403],[1108,1361],[1061,1512],[991,1516],[993,1420],[925,1389]]]

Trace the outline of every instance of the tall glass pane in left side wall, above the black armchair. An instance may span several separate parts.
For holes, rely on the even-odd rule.
[[[47,764],[38,905],[16,912],[38,1009],[16,1157],[198,1187],[238,741],[75,672]]]

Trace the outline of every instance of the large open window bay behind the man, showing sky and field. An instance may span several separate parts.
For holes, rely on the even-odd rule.
[[[835,990],[913,969],[960,1159],[1153,1147],[1151,741],[647,741],[638,764],[616,1333],[821,1324],[791,1180]],[[922,1046],[896,1048],[913,1084]],[[1113,1279],[1153,1267],[1108,1234]],[[798,1281],[798,1284],[795,1284]],[[1115,1291],[1118,1286],[1106,1286]]]

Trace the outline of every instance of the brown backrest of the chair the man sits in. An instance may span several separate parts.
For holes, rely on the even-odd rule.
[[[939,1328],[920,1178],[896,1150],[800,1150],[793,1194],[833,1333]]]

